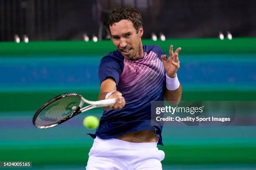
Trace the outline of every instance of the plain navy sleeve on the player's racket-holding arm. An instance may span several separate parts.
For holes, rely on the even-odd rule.
[[[115,58],[111,56],[103,57],[100,60],[98,75],[100,78],[100,84],[110,77],[115,80],[116,85],[118,85],[119,77],[121,75],[120,65]]]

